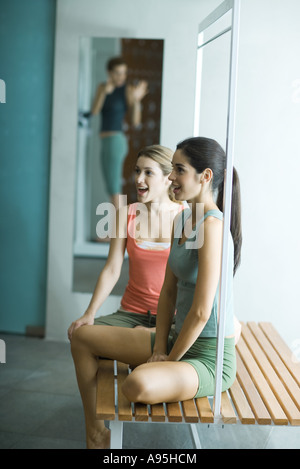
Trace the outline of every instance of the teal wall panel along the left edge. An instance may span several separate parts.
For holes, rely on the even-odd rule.
[[[0,331],[45,324],[55,0],[0,0]]]

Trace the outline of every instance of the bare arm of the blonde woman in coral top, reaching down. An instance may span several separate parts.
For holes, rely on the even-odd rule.
[[[68,337],[71,339],[75,329],[83,325],[92,325],[95,315],[116,285],[124,260],[127,234],[127,207],[121,207],[116,214],[116,237],[111,238],[110,248],[105,266],[98,277],[98,281],[83,316],[74,321],[68,329]]]

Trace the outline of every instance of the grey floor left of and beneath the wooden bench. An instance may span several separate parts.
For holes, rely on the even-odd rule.
[[[0,448],[85,448],[83,412],[67,343],[0,334]],[[300,449],[300,427],[199,425],[205,449]],[[193,449],[188,425],[126,424],[124,449]]]

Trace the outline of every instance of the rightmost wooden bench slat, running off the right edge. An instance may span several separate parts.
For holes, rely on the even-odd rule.
[[[281,360],[286,365],[291,375],[296,380],[298,386],[300,386],[300,362],[295,363],[292,359],[292,352],[286,345],[284,340],[280,337],[273,324],[270,322],[260,322],[259,327],[262,329],[268,340],[277,351]]]

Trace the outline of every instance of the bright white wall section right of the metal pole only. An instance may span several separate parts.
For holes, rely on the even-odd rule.
[[[300,2],[243,0],[236,167],[243,208],[240,319],[300,339]]]

